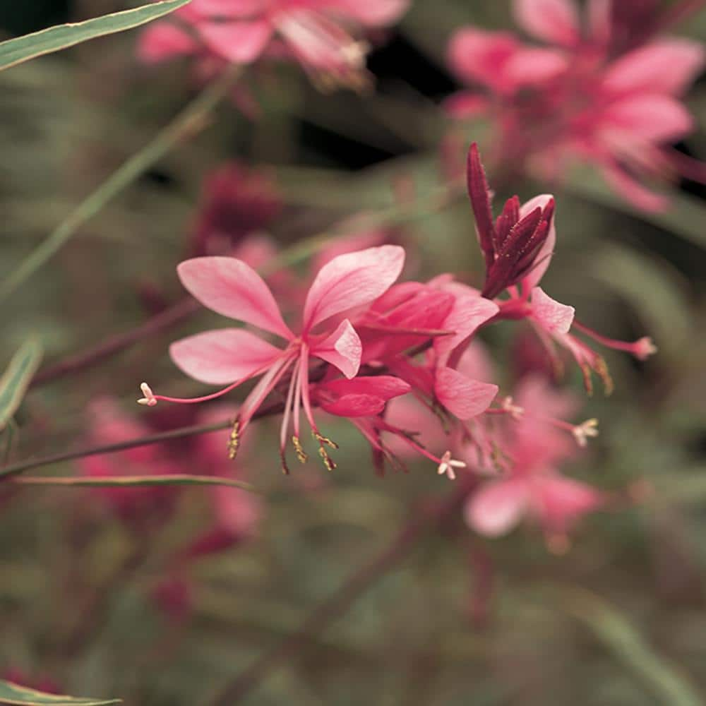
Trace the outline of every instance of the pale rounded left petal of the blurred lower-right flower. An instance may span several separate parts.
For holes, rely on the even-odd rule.
[[[489,484],[466,503],[466,524],[486,537],[500,537],[520,522],[528,499],[527,485],[522,481]]]

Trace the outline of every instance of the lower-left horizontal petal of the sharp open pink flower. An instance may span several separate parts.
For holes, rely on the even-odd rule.
[[[182,338],[169,347],[174,363],[202,383],[223,385],[267,368],[282,351],[242,328],[221,328]]]

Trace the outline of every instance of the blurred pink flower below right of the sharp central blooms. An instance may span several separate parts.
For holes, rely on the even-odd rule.
[[[575,456],[576,445],[554,418],[570,414],[576,403],[540,378],[527,378],[515,402],[522,413],[507,420],[501,442],[508,463],[499,479],[470,496],[466,521],[477,532],[498,537],[529,516],[541,525],[550,548],[564,549],[575,522],[604,503],[604,493],[558,471],[561,463]]]

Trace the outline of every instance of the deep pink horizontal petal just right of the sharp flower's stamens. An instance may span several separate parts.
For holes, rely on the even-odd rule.
[[[334,380],[317,387],[321,408],[339,417],[372,417],[385,409],[393,397],[406,395],[412,388],[389,375]]]

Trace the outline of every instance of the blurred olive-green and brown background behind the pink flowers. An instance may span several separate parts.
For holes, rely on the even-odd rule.
[[[10,37],[126,6],[4,1],[0,30]],[[238,193],[252,174],[261,179],[251,187],[255,223],[236,214],[229,237],[266,231],[282,248],[399,208],[408,217],[374,229],[407,246],[409,276],[453,271],[481,282],[467,200],[434,201],[445,179],[440,145],[451,136],[464,152],[471,140],[492,139],[488,121],[458,126],[441,108],[461,87],[445,57],[462,25],[519,31],[505,0],[415,0],[399,25],[372,38],[373,90],[319,92],[292,65],[247,71],[234,101],[204,116],[4,301],[3,360],[38,333],[50,365],[179,302],[175,265],[198,249],[205,180],[229,160],[241,170]],[[706,40],[706,10],[674,32]],[[201,90],[184,62],[141,64],[139,33],[0,73],[0,277]],[[704,159],[704,80],[686,103],[698,128],[676,148]],[[650,335],[659,348],[645,362],[607,352],[610,397],[587,397],[571,367],[563,380],[582,399],[580,418],[597,417],[601,432],[563,470],[616,500],[587,517],[560,555],[531,524],[485,539],[460,512],[448,517],[244,702],[706,702],[706,192],[683,179],[669,210],[642,213],[581,172],[551,187],[510,176],[496,203],[549,188],[558,244],[544,289],[605,335]],[[297,268],[309,273],[307,262]],[[100,364],[35,385],[11,458],[227,416],[219,407],[198,416],[134,404],[143,379],[169,394],[200,394],[167,348],[215,322],[204,311],[185,316]],[[524,334],[511,323],[483,332],[503,388],[532,358]],[[328,424],[341,445],[334,474],[312,463],[283,477],[272,452],[276,420],[253,429],[235,467],[262,496],[0,488],[0,675],[130,705],[207,704],[448,491],[428,465],[377,477],[357,431]],[[217,474],[226,440],[223,431],[48,470],[178,465]]]

